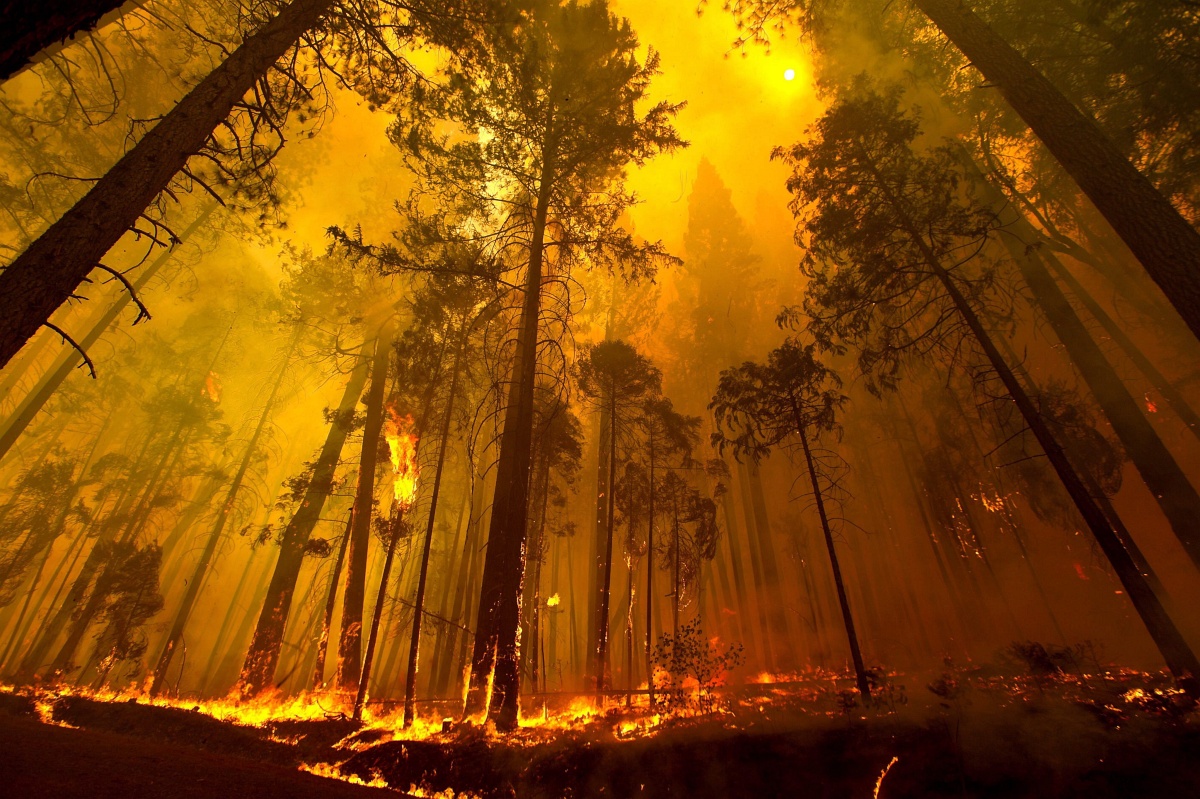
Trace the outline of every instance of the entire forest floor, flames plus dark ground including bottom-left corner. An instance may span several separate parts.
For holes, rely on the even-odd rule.
[[[0,795],[1200,797],[1200,711],[1158,677],[895,679],[865,709],[830,685],[740,686],[703,716],[547,699],[511,735],[454,725],[415,739],[388,719],[246,726],[0,692]]]

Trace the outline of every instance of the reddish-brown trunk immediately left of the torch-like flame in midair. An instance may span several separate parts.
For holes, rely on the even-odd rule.
[[[371,364],[371,388],[367,390],[367,416],[362,425],[362,449],[359,457],[359,481],[354,492],[349,551],[346,559],[346,593],[342,599],[342,636],[337,645],[337,687],[358,691],[362,671],[362,611],[367,593],[367,551],[371,547],[371,517],[374,507],[376,465],[379,462],[379,435],[383,432],[383,401],[391,364],[391,323],[379,326],[374,359]]]

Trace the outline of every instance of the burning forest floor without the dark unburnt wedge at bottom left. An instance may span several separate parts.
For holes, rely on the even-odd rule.
[[[336,695],[185,701],[2,687],[0,713],[176,740],[410,795],[1200,795],[1200,714],[1165,675],[881,675],[870,703],[821,672],[707,696],[527,699],[511,733],[449,721],[362,725]],[[398,710],[398,708],[397,708]],[[1176,764],[1176,765],[1172,765]],[[773,787],[774,786],[774,787]],[[1086,789],[1086,791],[1085,791]],[[1139,792],[1142,791],[1144,792]]]

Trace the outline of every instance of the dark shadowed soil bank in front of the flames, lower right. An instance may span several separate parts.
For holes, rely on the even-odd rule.
[[[343,773],[407,789],[487,799],[1200,798],[1200,729],[1086,710],[1021,707],[986,723],[898,716],[701,725],[637,740],[560,735],[534,746],[487,739],[391,741]]]

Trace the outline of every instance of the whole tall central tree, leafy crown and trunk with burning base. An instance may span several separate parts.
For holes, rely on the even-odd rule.
[[[467,713],[482,710],[491,685],[490,717],[503,728],[517,721],[522,552],[547,246],[558,270],[586,253],[592,263],[646,272],[662,253],[618,227],[632,202],[619,173],[682,144],[670,126],[676,107],[640,108],[658,56],[652,52],[638,62],[632,30],[606,2],[534,6],[515,28],[487,37],[485,58],[463,59],[444,88],[422,90],[428,116],[402,120],[394,132],[424,162],[416,168],[443,208],[482,220],[502,209],[499,235],[520,242],[515,258],[524,268],[467,701]],[[436,134],[439,119],[452,120],[468,137]],[[479,130],[504,133],[485,140],[474,136]]]

